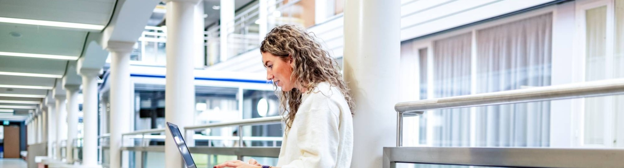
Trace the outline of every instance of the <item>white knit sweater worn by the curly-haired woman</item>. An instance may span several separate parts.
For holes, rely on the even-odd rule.
[[[350,167],[353,117],[338,88],[321,82],[302,95],[281,144],[277,167]]]

